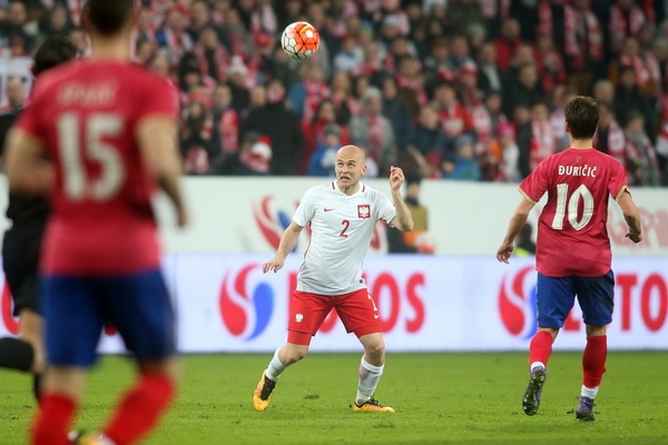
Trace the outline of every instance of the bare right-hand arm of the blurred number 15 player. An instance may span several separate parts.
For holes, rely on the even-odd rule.
[[[177,224],[187,224],[187,214],[180,191],[181,162],[177,148],[177,123],[171,117],[156,115],[137,126],[137,140],[149,171],[167,194],[176,209]]]

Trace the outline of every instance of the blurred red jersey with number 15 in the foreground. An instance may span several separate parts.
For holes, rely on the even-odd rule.
[[[89,60],[40,76],[18,126],[45,144],[55,167],[45,273],[110,276],[159,265],[156,185],[136,140],[138,122],[157,115],[176,120],[178,96],[143,68]]]

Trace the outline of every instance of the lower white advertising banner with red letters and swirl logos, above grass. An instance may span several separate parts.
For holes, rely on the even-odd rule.
[[[170,254],[164,268],[179,315],[184,353],[272,352],[286,339],[289,296],[302,257],[263,274],[266,255]],[[668,349],[668,258],[617,258],[611,349]],[[390,352],[523,350],[536,332],[533,258],[371,255],[365,278]],[[0,335],[16,334],[7,286]],[[576,304],[554,349],[580,349],[584,326]],[[104,353],[120,350],[105,335]],[[335,313],[312,350],[360,350]]]

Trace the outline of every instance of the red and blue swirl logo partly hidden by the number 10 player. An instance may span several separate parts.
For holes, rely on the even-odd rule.
[[[499,289],[499,314],[505,329],[514,336],[531,338],[536,334],[534,267],[508,274]]]

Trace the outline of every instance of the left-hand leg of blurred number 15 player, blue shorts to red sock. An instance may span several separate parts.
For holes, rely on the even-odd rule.
[[[41,281],[47,362],[31,444],[67,444],[86,374],[96,359],[104,317],[88,279],[50,277]]]

